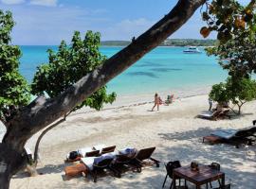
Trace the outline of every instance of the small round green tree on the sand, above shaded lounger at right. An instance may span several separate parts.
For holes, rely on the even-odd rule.
[[[256,81],[247,77],[228,77],[226,83],[212,86],[210,98],[218,103],[231,101],[238,106],[240,114],[241,107],[247,101],[256,99]]]

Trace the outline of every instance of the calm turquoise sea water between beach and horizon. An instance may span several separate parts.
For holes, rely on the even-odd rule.
[[[47,62],[48,48],[57,46],[22,46],[20,71],[30,82],[36,67]],[[101,47],[101,53],[111,57],[123,47]],[[203,88],[223,81],[227,73],[215,57],[184,54],[186,47],[157,47],[119,77],[111,80],[108,91],[117,94],[153,94],[174,90]],[[203,51],[203,47],[199,48]]]

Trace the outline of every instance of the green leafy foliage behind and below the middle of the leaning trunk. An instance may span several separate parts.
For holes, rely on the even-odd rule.
[[[106,57],[101,55],[99,46],[100,33],[87,31],[82,40],[80,32],[76,31],[70,46],[63,41],[58,52],[48,50],[49,63],[38,68],[31,84],[32,93],[42,94],[45,91],[50,97],[63,93],[65,89],[106,60]],[[115,99],[116,94],[106,94],[106,86],[103,86],[86,98],[74,111],[82,106],[100,110],[103,103],[112,103]]]

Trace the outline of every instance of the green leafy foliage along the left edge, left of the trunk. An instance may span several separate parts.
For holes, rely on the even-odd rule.
[[[14,22],[9,11],[0,10],[0,117],[8,121],[18,108],[30,100],[29,86],[19,74],[21,50],[11,45],[10,32]]]

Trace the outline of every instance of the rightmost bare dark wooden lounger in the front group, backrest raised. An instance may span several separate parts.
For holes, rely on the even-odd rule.
[[[140,149],[137,152],[135,158],[131,160],[131,164],[137,167],[137,172],[141,172],[141,168],[145,163],[145,160],[150,160],[153,163],[155,163],[156,167],[159,167],[160,162],[151,157],[154,151],[155,151],[155,147],[149,147],[149,148]]]

